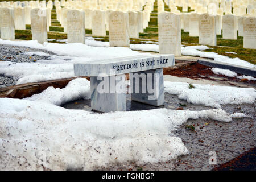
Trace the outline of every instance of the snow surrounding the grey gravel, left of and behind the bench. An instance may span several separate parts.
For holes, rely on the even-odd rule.
[[[98,41],[94,42],[100,43]],[[37,43],[36,40],[10,41],[0,39],[0,44],[38,48],[57,54],[51,55],[42,51],[23,53],[28,56],[49,56],[47,60],[37,60],[36,63],[1,61],[0,74],[15,77],[18,79],[16,84],[74,77],[74,63],[85,63],[86,61],[98,59],[111,59],[142,54],[137,51],[132,51],[127,47],[93,47],[81,43],[44,43],[44,45],[42,45]]]

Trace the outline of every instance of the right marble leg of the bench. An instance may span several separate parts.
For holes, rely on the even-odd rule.
[[[153,106],[164,105],[163,68],[130,73],[129,77],[131,100]]]

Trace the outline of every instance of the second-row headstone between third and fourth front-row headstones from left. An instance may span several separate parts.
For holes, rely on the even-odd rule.
[[[105,11],[94,10],[92,12],[92,35],[106,36]]]

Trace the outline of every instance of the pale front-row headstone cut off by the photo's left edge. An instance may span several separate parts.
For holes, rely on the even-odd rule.
[[[0,9],[0,30],[1,39],[14,40],[14,9],[1,8]]]

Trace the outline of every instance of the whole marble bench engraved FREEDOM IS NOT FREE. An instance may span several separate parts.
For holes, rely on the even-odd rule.
[[[174,64],[174,55],[142,55],[74,64],[74,72],[76,76],[90,76],[92,110],[125,111],[127,92],[118,92],[118,86],[125,83],[126,73],[130,77],[131,100],[162,106],[163,68]],[[99,89],[108,91],[102,93]]]

